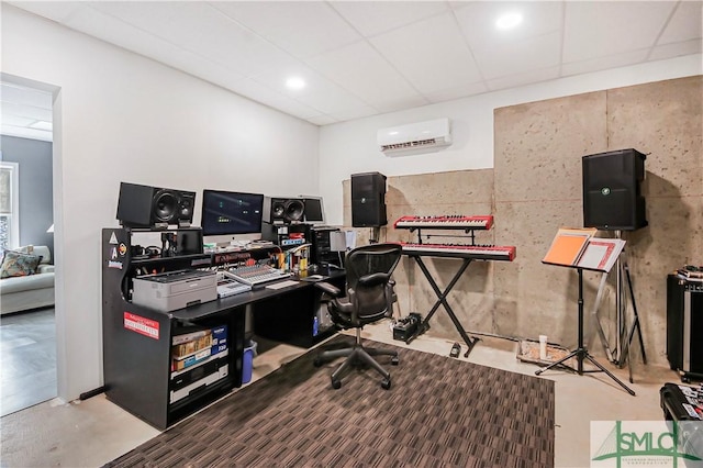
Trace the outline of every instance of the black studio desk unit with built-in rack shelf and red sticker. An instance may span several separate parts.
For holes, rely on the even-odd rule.
[[[131,289],[137,272],[210,268],[221,263],[217,254],[202,253],[133,258],[133,236],[149,233],[102,230],[102,341],[107,398],[153,426],[165,430],[242,386],[247,310],[253,313],[255,333],[268,339],[310,347],[334,333],[313,335],[321,293],[312,282],[255,289],[171,312],[133,303]],[[268,254],[257,249],[253,256],[258,255]],[[344,280],[344,274],[332,278],[341,287]],[[192,331],[193,325],[226,325],[227,375],[170,403],[172,337]]]

